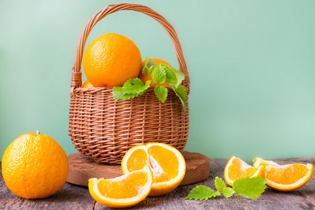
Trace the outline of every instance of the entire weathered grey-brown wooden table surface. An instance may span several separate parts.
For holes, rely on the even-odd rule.
[[[291,158],[275,160],[280,164],[312,163],[313,158]],[[197,184],[176,188],[173,192],[159,197],[147,197],[129,209],[315,209],[315,175],[300,189],[292,192],[278,192],[270,188],[258,200],[239,196],[228,199],[223,196],[210,200],[185,200],[189,191],[198,184],[215,189],[214,178],[223,176],[227,160],[210,159],[210,177]],[[111,209],[103,206],[90,196],[87,187],[65,183],[61,190],[44,199],[23,199],[14,195],[6,186],[0,174],[0,209]]]

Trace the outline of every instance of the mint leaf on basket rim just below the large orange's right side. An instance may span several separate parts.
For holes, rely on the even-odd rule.
[[[122,86],[124,94],[139,94],[150,86],[150,80],[147,80],[145,84],[139,78],[128,79]]]

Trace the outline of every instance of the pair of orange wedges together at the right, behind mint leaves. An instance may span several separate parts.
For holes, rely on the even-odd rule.
[[[237,157],[231,157],[224,168],[224,179],[233,186],[234,180],[249,176],[262,176],[267,185],[279,191],[292,191],[300,188],[310,179],[313,172],[312,164],[293,163],[279,165],[270,160],[254,158],[254,166],[248,165]]]

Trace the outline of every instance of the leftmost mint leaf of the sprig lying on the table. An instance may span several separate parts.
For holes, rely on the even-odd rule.
[[[185,199],[205,200],[211,197],[219,196],[220,192],[214,191],[210,187],[197,185],[193,188]]]

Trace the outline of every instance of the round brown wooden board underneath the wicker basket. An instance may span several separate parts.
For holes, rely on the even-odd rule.
[[[186,174],[180,186],[197,183],[210,175],[209,158],[199,153],[182,152],[186,161]],[[69,175],[67,182],[88,186],[90,178],[115,178],[121,176],[120,165],[96,163],[80,153],[68,156]]]

